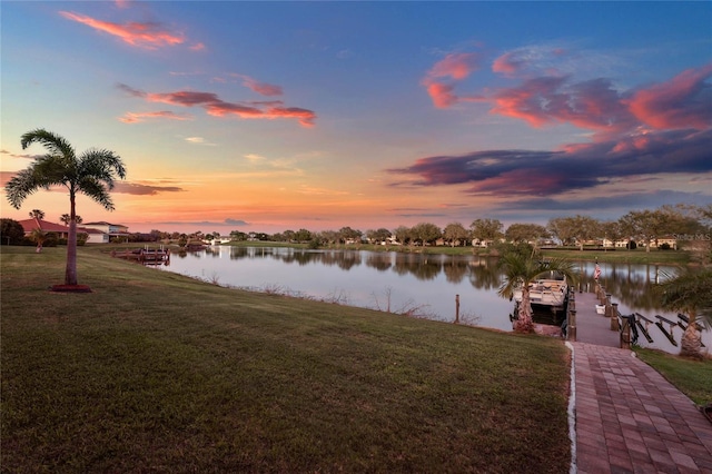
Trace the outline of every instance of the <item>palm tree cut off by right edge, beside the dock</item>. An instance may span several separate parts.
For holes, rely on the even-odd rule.
[[[686,313],[689,324],[680,343],[680,355],[702,358],[702,336],[698,330],[698,317],[712,325],[712,268],[702,271],[686,270],[660,285],[665,309]]]

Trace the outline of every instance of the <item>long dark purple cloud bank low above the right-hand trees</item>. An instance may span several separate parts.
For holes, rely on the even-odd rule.
[[[495,149],[429,156],[387,171],[416,177],[407,180],[409,186],[467,185],[466,191],[477,195],[554,196],[641,174],[709,174],[711,139],[712,129],[652,131],[571,144],[557,150]]]

